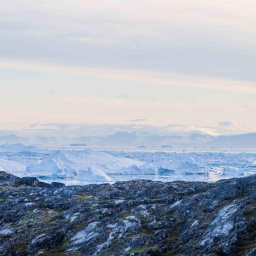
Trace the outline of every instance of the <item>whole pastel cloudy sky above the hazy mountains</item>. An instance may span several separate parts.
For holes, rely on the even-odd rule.
[[[255,13],[253,0],[0,0],[0,130],[254,132]]]

